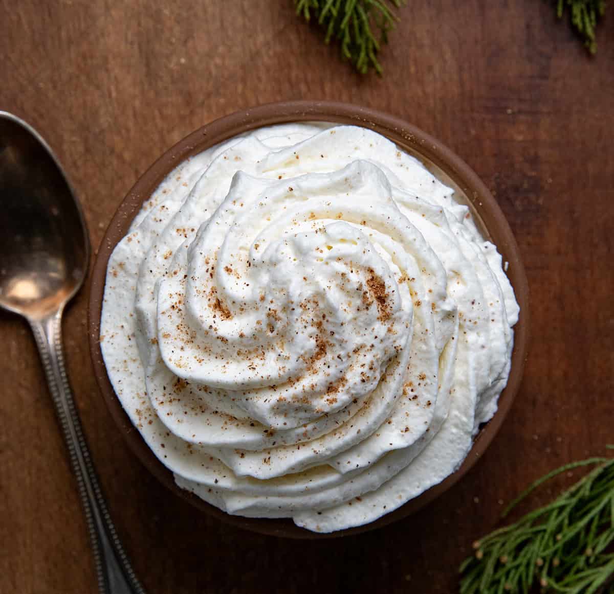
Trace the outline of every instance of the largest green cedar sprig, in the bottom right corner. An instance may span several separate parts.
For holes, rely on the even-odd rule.
[[[595,465],[549,505],[476,541],[460,568],[461,594],[528,594],[534,587],[567,594],[610,588],[614,594],[614,458],[561,466],[530,485],[503,517],[546,480]]]

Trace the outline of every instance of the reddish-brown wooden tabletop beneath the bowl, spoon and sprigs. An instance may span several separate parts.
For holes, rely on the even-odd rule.
[[[494,191],[526,264],[529,363],[486,455],[417,516],[316,542],[208,519],[147,473],[91,374],[86,287],[64,321],[69,373],[115,524],[148,592],[454,592],[457,565],[497,524],[503,502],[614,441],[609,12],[590,58],[548,2],[410,2],[378,79],[338,61],[338,48],[320,44],[290,0],[0,0],[0,109],[56,150],[95,247],[139,174],[193,129],[262,102],[327,98],[403,117],[461,155]],[[0,592],[95,592],[34,341],[10,315],[0,315],[0,332]]]

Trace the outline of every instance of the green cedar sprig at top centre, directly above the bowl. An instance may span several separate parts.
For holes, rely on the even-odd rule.
[[[377,55],[388,42],[388,32],[394,28],[397,15],[393,10],[405,0],[294,0],[297,14],[306,20],[313,16],[325,29],[324,41],[341,43],[341,55],[360,74],[371,68],[378,74],[383,69]],[[378,29],[378,34],[374,33]]]

